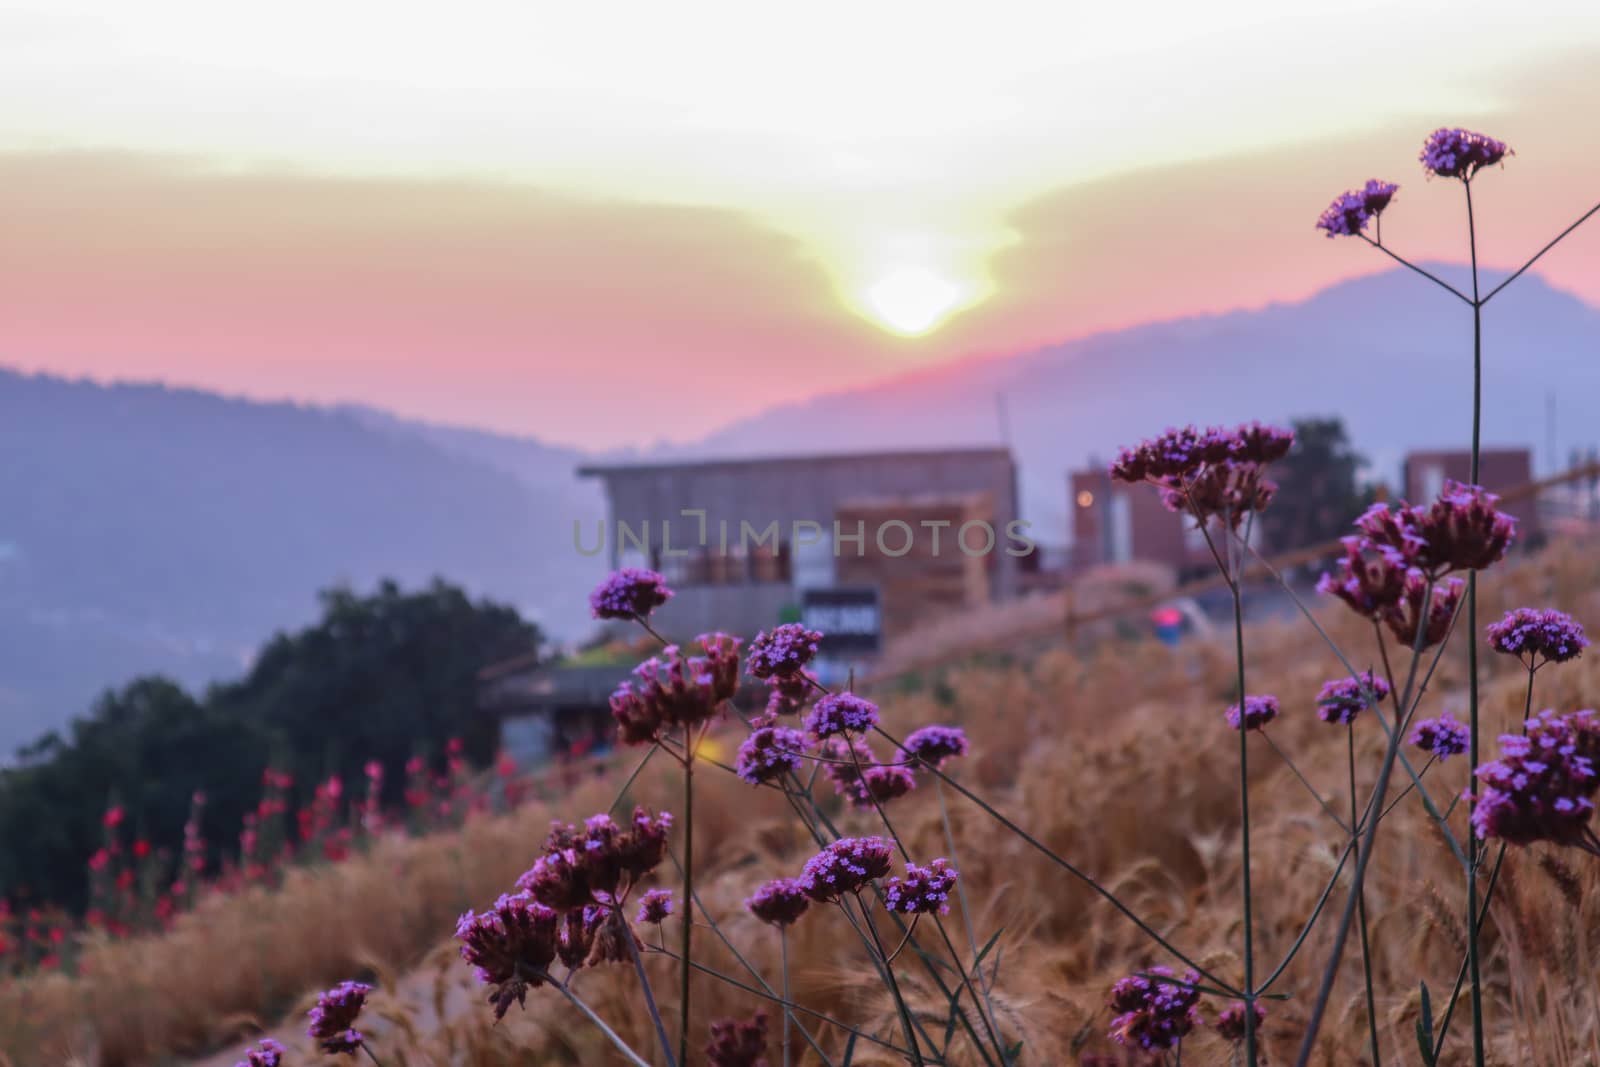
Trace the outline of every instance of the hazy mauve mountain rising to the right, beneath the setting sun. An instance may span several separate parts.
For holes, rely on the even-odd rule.
[[[1459,267],[1427,267],[1470,286]],[[1600,309],[1525,275],[1483,320],[1483,443],[1531,446],[1547,466],[1552,394],[1563,462],[1600,440],[1587,408],[1600,395]],[[1040,541],[1059,542],[1067,470],[1139,437],[1341,414],[1376,474],[1392,478],[1413,448],[1467,446],[1470,376],[1469,307],[1395,269],[1302,302],[1141,325],[786,405],[678,454],[992,445],[1003,397],[1024,515]]]

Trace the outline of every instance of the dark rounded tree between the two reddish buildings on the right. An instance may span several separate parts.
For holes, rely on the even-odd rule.
[[[1331,541],[1350,530],[1368,494],[1357,485],[1365,462],[1350,448],[1344,421],[1294,419],[1294,446],[1272,467],[1278,491],[1261,514],[1262,534],[1277,552]]]

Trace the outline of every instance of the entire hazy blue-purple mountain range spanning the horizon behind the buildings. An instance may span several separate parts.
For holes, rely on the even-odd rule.
[[[1518,280],[1485,312],[1483,386],[1485,445],[1546,462],[1552,390],[1558,456],[1595,443],[1600,309]],[[1037,541],[1061,542],[1067,472],[1171,424],[1341,414],[1389,475],[1408,450],[1464,448],[1470,315],[1394,270],[1301,302],[926,368],[693,446],[608,456],[363,406],[0,370],[0,752],[136,673],[237,673],[339,581],[438,574],[581,637],[602,560],[574,552],[573,520],[605,514],[581,462],[992,445],[997,397],[1024,517]]]

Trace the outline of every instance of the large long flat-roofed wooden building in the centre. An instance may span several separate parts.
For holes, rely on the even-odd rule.
[[[806,590],[843,585],[878,589],[896,624],[958,608],[968,597],[1010,598],[1027,553],[1016,464],[1003,448],[589,466],[578,474],[600,478],[608,501],[606,522],[578,531],[578,550],[603,552],[613,568],[661,571],[677,595],[653,622],[674,638],[706,630],[749,637],[798,617]]]

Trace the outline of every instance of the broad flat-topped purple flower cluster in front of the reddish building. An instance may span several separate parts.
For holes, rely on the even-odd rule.
[[[1283,459],[1293,443],[1293,432],[1261,422],[1232,430],[1187,426],[1123,448],[1110,477],[1155,485],[1170,510],[1202,522],[1226,515],[1237,528],[1272,501],[1277,486],[1266,478],[1266,466]]]

